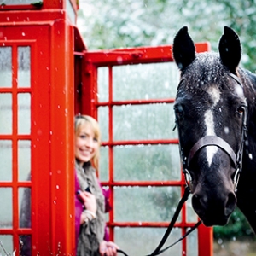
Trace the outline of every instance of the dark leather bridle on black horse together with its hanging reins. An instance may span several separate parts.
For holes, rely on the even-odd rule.
[[[236,80],[236,83],[239,84],[241,86],[241,88],[243,87],[241,84],[241,80],[236,77],[236,75],[234,75],[233,73],[230,73],[229,76],[232,79]],[[177,88],[179,88],[179,85],[183,82],[183,79],[181,79],[181,81],[179,82]],[[176,122],[176,125],[174,127],[174,129],[177,127],[177,133],[178,133],[178,138],[180,138],[180,131],[178,129],[178,124]],[[173,129],[173,130],[174,130]],[[193,147],[190,149],[188,156],[183,154],[183,148],[181,147],[181,144],[179,143],[179,148],[180,148],[180,157],[181,157],[181,161],[182,161],[182,166],[183,166],[183,173],[184,173],[184,177],[185,177],[185,182],[186,182],[186,188],[183,194],[182,199],[179,201],[176,212],[174,213],[172,220],[166,230],[165,235],[163,236],[162,240],[160,241],[158,247],[155,248],[154,252],[151,254],[148,254],[146,256],[155,256],[155,255],[160,255],[161,253],[164,253],[167,249],[169,249],[170,247],[173,247],[175,244],[177,244],[177,242],[182,241],[186,236],[189,236],[189,234],[195,230],[200,224],[201,224],[201,220],[199,222],[197,222],[190,230],[188,230],[186,232],[186,234],[184,236],[182,236],[180,239],[178,239],[177,241],[175,241],[174,243],[172,243],[172,245],[161,249],[163,247],[163,245],[165,244],[168,236],[170,235],[172,228],[174,227],[174,224],[177,220],[177,217],[179,215],[179,212],[181,211],[183,204],[185,203],[185,201],[188,200],[189,198],[189,194],[191,193],[192,190],[192,185],[193,185],[193,179],[190,175],[189,172],[189,166],[190,166],[190,162],[191,160],[193,160],[193,158],[195,157],[195,154],[201,150],[201,148],[205,148],[207,146],[217,146],[218,148],[221,148],[226,154],[228,154],[230,156],[230,160],[232,161],[232,164],[235,166],[236,168],[236,172],[233,178],[233,183],[234,183],[234,190],[236,192],[236,188],[237,188],[237,184],[239,181],[239,177],[240,177],[240,173],[241,173],[241,168],[242,168],[242,155],[243,155],[243,147],[244,147],[244,143],[247,140],[247,106],[244,106],[244,111],[243,111],[243,115],[242,115],[242,127],[241,127],[241,142],[240,142],[240,147],[238,149],[238,152],[235,153],[234,150],[230,147],[230,144],[225,142],[223,138],[218,137],[218,136],[205,136],[205,137],[201,137],[194,145]],[[125,256],[128,256],[128,254],[126,254],[124,251],[122,250],[117,250],[118,253],[122,253]]]

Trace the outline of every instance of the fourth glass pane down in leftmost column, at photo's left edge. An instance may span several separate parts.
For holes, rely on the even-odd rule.
[[[0,195],[0,229],[10,229],[13,226],[12,189],[0,188]]]

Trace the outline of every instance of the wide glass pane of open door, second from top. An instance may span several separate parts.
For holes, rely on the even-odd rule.
[[[174,125],[172,104],[113,107],[113,138],[117,141],[177,138]]]

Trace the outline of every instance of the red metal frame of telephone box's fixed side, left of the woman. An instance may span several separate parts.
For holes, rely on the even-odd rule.
[[[57,8],[60,1],[44,1],[44,8]],[[51,4],[50,4],[51,3]],[[27,18],[29,18],[27,20]],[[24,21],[25,20],[25,21]],[[17,22],[16,22],[17,21]],[[52,255],[61,251],[74,254],[73,183],[73,106],[75,29],[60,9],[1,10],[0,45],[13,47],[13,87],[0,93],[13,94],[13,133],[0,139],[13,141],[13,178],[0,182],[1,188],[13,188],[13,227],[0,229],[1,235],[13,235],[19,251],[19,235],[32,235],[32,255]],[[31,88],[17,88],[17,45],[31,46]],[[68,72],[67,72],[68,71]],[[18,92],[29,92],[31,135],[17,134]],[[19,182],[17,140],[32,142],[32,181]],[[18,188],[32,189],[32,228],[20,229]]]

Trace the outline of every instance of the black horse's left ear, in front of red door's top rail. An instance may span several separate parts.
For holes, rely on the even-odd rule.
[[[195,44],[189,36],[187,26],[177,32],[173,40],[172,55],[181,71],[195,60]]]

